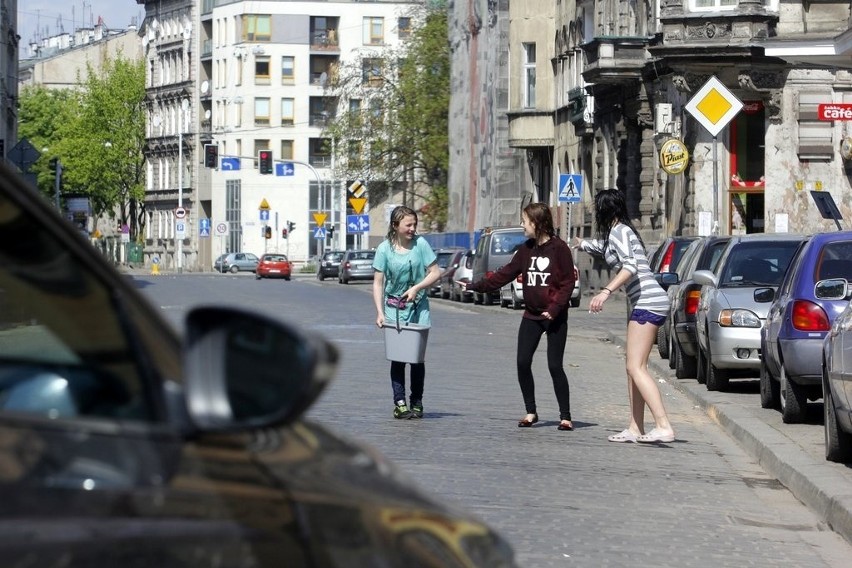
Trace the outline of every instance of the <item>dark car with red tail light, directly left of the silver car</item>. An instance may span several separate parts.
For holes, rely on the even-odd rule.
[[[695,377],[697,374],[695,314],[701,297],[701,285],[695,282],[693,274],[696,270],[715,270],[729,240],[727,236],[710,236],[692,241],[678,263],[677,272],[662,275],[670,284],[667,292],[671,309],[665,323],[671,330],[667,333],[671,337],[669,361],[674,363],[675,376],[679,379]]]

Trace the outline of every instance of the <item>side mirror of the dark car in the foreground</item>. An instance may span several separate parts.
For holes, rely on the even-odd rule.
[[[291,422],[329,383],[339,359],[325,339],[243,309],[186,318],[185,401],[193,424],[231,431]]]

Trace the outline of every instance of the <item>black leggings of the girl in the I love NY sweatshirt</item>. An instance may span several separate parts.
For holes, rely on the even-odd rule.
[[[563,314],[555,320],[533,320],[521,318],[518,328],[518,384],[524,397],[524,406],[528,414],[536,414],[535,381],[532,376],[532,358],[541,341],[541,334],[547,334],[547,368],[553,380],[553,391],[559,403],[559,419],[571,420],[571,396],[568,377],[562,366],[565,356],[565,341],[568,337],[568,315]]]

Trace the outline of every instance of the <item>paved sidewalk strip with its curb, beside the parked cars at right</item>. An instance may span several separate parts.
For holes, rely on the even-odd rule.
[[[608,303],[606,311],[611,310],[612,316],[620,318],[622,324],[606,332],[623,349],[626,306],[619,299]],[[587,305],[586,300],[582,306]],[[738,381],[731,383],[730,390],[734,392],[717,393],[708,391],[695,379],[679,380],[669,369],[668,361],[660,358],[656,346],[649,367],[701,407],[769,475],[852,543],[852,468],[825,459],[821,419],[807,424],[783,424],[779,412],[762,409],[759,402],[749,400],[754,396],[743,400],[746,395],[737,392]],[[756,406],[752,407],[752,402]]]

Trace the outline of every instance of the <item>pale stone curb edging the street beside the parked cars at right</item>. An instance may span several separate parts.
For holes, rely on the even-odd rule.
[[[609,339],[624,348],[623,336],[608,332]],[[685,394],[719,424],[766,472],[780,481],[820,520],[852,544],[852,493],[843,494],[848,481],[825,462],[815,462],[789,438],[765,422],[728,404],[717,404],[702,394],[703,385],[673,379],[668,365],[649,361],[651,371]],[[705,393],[707,391],[704,391]]]

